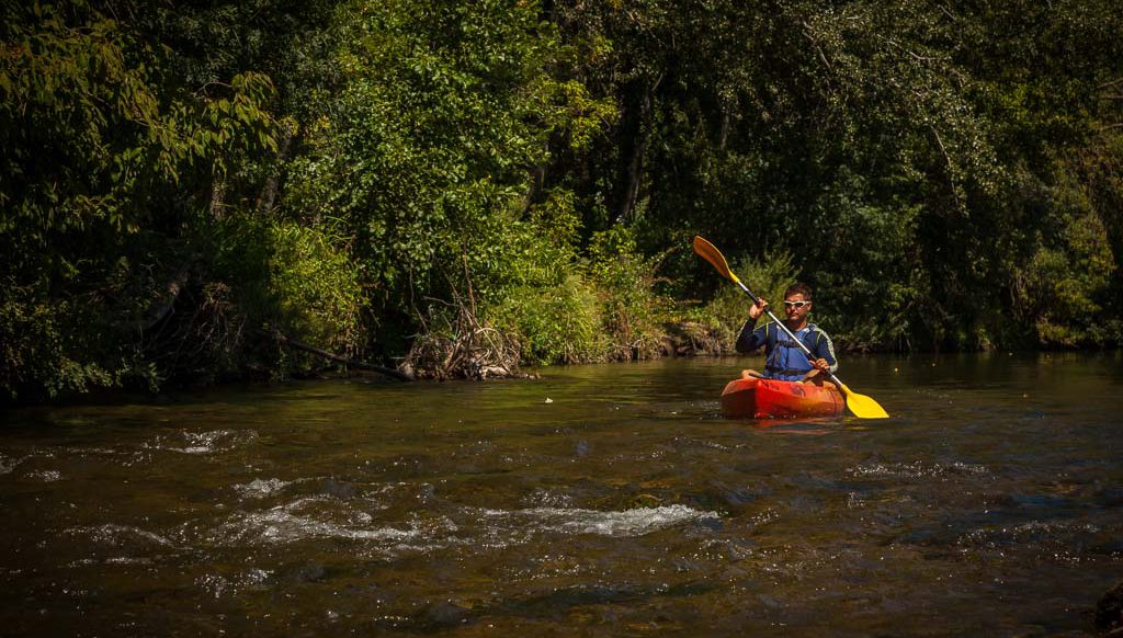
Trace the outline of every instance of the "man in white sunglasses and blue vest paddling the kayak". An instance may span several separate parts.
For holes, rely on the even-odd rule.
[[[741,327],[737,336],[737,352],[752,353],[760,346],[765,347],[765,372],[754,370],[742,372],[742,376],[758,376],[779,381],[814,381],[822,383],[823,373],[833,374],[838,370],[834,357],[834,344],[827,332],[814,323],[807,322],[811,312],[811,288],[806,284],[792,284],[784,291],[784,313],[787,319],[784,325],[811,350],[809,357],[784,330],[772,322],[754,329],[757,319],[768,308],[768,302],[758,299],[749,308],[749,320]]]

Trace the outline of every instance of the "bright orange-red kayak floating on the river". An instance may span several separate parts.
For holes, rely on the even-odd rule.
[[[837,417],[846,410],[833,386],[772,379],[734,379],[721,393],[721,411],[729,418]]]

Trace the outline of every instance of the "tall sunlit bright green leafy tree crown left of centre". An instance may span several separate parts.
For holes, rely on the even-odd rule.
[[[462,255],[493,265],[465,246],[526,192],[563,88],[544,73],[551,40],[529,6],[355,2],[345,15],[345,86],[309,131],[291,194],[355,237],[380,306],[399,306],[439,292]]]

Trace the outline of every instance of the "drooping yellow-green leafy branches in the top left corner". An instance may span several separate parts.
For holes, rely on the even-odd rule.
[[[263,102],[268,78],[235,75],[221,97],[159,92],[163,52],[85,8],[6,11],[0,61],[0,233],[44,245],[52,233],[103,226],[135,233],[186,173],[223,175],[227,161],[275,149]],[[171,99],[170,99],[171,98]]]

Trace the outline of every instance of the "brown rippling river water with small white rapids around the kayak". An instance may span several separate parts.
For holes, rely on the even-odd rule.
[[[1123,357],[849,357],[892,418],[736,421],[756,358],[2,416],[8,636],[1080,636]]]

